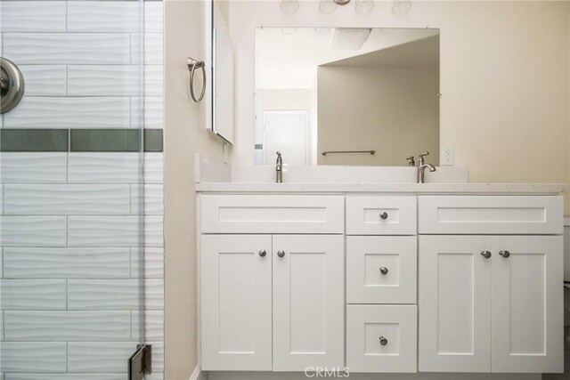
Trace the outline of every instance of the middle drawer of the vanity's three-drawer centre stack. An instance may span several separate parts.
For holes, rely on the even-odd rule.
[[[346,303],[416,303],[415,236],[346,238]]]

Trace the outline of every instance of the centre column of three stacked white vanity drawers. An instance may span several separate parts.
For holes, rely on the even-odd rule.
[[[346,197],[346,366],[351,372],[418,370],[416,225],[415,196]]]

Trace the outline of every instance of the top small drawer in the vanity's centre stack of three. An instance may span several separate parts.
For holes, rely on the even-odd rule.
[[[416,197],[347,197],[347,235],[414,235]]]

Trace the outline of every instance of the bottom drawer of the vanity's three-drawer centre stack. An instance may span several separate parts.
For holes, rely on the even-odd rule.
[[[416,305],[346,306],[346,366],[351,372],[417,372],[417,319]]]

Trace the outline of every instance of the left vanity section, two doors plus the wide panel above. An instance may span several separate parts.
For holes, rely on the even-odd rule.
[[[344,198],[254,198],[201,197],[201,368],[344,367]]]

